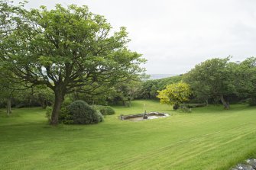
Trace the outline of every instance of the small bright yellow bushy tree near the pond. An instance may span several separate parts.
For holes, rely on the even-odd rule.
[[[157,98],[160,98],[160,103],[174,104],[173,109],[177,109],[180,104],[189,101],[191,95],[190,85],[184,82],[167,85],[164,90],[158,92]]]

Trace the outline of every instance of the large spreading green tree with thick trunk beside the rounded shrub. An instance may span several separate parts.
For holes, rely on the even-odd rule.
[[[140,65],[145,60],[127,49],[125,27],[113,32],[104,17],[86,6],[25,10],[8,4],[2,9],[2,18],[9,20],[0,41],[2,65],[24,82],[53,90],[52,124],[58,123],[67,93],[90,93],[144,71]]]

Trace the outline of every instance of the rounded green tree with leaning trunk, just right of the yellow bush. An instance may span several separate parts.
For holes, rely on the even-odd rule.
[[[220,100],[225,109],[228,109],[228,95],[234,92],[234,70],[228,61],[229,57],[208,59],[186,73],[184,81],[190,84],[197,98],[206,101],[209,98]]]

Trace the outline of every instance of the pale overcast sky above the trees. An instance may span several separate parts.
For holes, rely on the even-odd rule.
[[[255,0],[31,0],[27,6],[56,3],[88,5],[115,30],[127,27],[129,48],[147,59],[148,74],[184,73],[214,57],[256,56]]]

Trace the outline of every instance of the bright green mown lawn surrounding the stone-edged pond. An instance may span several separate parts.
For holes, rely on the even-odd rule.
[[[141,122],[119,114],[161,111],[171,117]],[[256,107],[196,108],[177,114],[156,101],[89,126],[50,127],[39,108],[0,112],[0,169],[228,169],[256,151]]]

